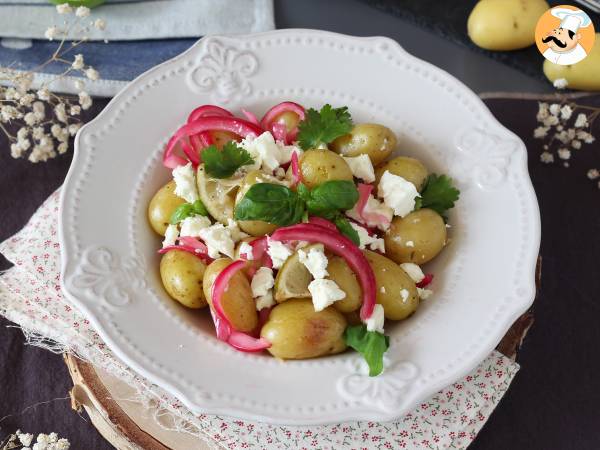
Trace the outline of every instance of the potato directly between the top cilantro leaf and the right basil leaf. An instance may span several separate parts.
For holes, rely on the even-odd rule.
[[[344,158],[326,149],[305,151],[300,156],[300,171],[303,183],[309,188],[329,180],[353,180],[352,171]]]

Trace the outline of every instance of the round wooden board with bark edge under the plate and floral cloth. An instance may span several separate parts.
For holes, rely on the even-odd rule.
[[[541,258],[536,268],[537,292],[541,275]],[[533,324],[533,307],[512,325],[496,349],[511,359]],[[207,442],[187,434],[168,431],[152,418],[152,411],[128,401],[135,391],[109,373],[71,354],[64,355],[73,379],[70,392],[73,409],[81,408],[90,416],[100,434],[119,450],[209,450]]]

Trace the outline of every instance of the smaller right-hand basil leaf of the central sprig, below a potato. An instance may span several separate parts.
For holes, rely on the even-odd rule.
[[[326,217],[339,210],[348,210],[358,201],[358,189],[352,181],[330,180],[310,191],[306,200],[308,212]]]

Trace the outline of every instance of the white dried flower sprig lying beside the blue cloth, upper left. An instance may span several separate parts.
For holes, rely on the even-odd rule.
[[[81,127],[81,111],[92,106],[83,80],[75,80],[76,98],[57,95],[52,84],[69,75],[80,74],[92,81],[100,79],[99,72],[86,64],[74,50],[88,40],[92,28],[104,30],[106,22],[96,19],[87,22],[90,9],[71,7],[68,3],[56,6],[58,14],[68,16],[62,26],[51,26],[45,36],[57,40],[58,46],[50,58],[28,72],[0,67],[0,131],[10,142],[13,158],[27,157],[31,162],[47,161],[69,149],[69,138]],[[75,39],[67,43],[67,39]],[[52,63],[65,69],[52,79],[32,89],[35,74]]]

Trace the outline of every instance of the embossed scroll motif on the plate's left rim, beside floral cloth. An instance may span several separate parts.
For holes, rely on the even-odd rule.
[[[88,247],[70,284],[73,295],[124,306],[132,300],[134,289],[143,287],[144,271],[137,261],[122,259],[106,247]]]

